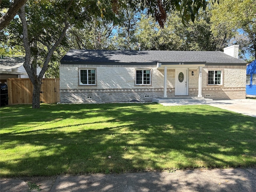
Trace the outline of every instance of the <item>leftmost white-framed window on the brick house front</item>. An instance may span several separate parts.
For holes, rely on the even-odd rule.
[[[80,85],[96,85],[95,69],[80,69]]]

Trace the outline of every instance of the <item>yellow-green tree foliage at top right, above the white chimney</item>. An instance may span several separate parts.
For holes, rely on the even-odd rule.
[[[222,36],[224,46],[226,39],[241,44],[241,57],[246,59],[246,52],[256,58],[256,1],[222,0],[212,10],[212,31],[214,36]]]

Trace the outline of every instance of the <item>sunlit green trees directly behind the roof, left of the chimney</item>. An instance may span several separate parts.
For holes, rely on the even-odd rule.
[[[136,38],[143,50],[215,50],[216,44],[210,30],[210,18],[204,13],[198,20],[182,24],[178,12],[167,17],[160,28],[152,17],[142,15],[136,28]]]

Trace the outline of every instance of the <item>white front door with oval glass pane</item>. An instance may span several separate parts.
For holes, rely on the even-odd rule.
[[[188,95],[188,80],[186,69],[176,69],[175,95]]]

